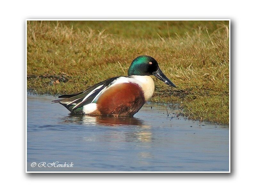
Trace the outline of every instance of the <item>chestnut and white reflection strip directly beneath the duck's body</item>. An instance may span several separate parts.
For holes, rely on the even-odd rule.
[[[135,117],[114,117],[114,116],[89,116],[69,114],[64,117],[63,123],[76,123],[76,124],[100,124],[107,126],[122,126],[122,125],[135,125],[143,128],[149,128],[142,119]]]

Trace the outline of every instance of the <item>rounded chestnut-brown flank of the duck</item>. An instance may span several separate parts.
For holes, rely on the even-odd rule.
[[[97,105],[101,115],[133,116],[145,102],[139,85],[122,83],[108,88],[97,100]]]

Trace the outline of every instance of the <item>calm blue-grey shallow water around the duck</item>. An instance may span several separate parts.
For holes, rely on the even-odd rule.
[[[228,125],[153,104],[133,118],[70,115],[55,98],[27,95],[27,171],[229,171]]]

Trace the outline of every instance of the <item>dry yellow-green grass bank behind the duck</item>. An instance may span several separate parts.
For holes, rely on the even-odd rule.
[[[145,54],[178,86],[153,77],[152,102],[180,103],[190,118],[228,124],[228,30],[228,21],[28,21],[27,86],[81,92],[127,75]]]

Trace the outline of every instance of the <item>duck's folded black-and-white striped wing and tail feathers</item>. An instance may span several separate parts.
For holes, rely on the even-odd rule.
[[[109,87],[117,78],[119,78],[119,76],[102,81],[77,94],[61,95],[59,98],[62,99],[53,100],[52,102],[60,103],[69,111],[73,112],[76,108],[87,105],[89,103],[95,103],[100,95],[106,90],[106,88]]]

